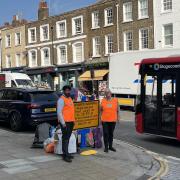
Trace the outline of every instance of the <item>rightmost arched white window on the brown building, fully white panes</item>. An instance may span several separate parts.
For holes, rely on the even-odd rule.
[[[77,42],[73,44],[73,61],[75,63],[84,61],[84,44]]]

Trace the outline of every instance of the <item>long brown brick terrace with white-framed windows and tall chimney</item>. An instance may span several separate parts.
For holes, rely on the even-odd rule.
[[[23,71],[54,89],[69,81],[78,86],[84,71],[108,69],[110,53],[154,48],[153,33],[152,0],[101,0],[57,16],[40,0],[38,19],[25,25],[22,37]]]

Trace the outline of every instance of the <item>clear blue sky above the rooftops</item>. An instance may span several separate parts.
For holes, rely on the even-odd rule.
[[[37,10],[40,0],[0,0],[0,26],[4,22],[11,22],[12,16],[19,14],[27,20],[37,19]],[[49,3],[50,15],[87,6],[97,0],[46,0]]]

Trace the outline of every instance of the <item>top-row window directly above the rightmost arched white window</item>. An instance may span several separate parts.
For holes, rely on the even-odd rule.
[[[83,16],[72,18],[72,34],[78,35],[83,33]]]

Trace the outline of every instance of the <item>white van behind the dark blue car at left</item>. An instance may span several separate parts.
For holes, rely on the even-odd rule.
[[[35,85],[27,74],[2,72],[0,73],[0,88],[3,87],[33,88]]]

